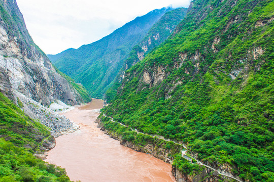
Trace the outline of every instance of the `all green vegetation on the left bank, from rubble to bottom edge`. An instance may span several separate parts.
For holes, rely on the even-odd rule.
[[[43,151],[43,141],[52,137],[0,93],[0,181],[70,181],[64,169],[32,155]]]

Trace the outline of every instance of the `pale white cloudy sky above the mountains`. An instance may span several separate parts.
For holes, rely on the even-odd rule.
[[[154,9],[188,8],[191,0],[17,0],[26,27],[46,54],[79,48]]]

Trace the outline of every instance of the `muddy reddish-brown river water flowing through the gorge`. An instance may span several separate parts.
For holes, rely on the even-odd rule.
[[[80,130],[59,136],[45,161],[66,169],[71,180],[82,182],[176,181],[172,166],[155,157],[120,145],[97,128],[95,119],[101,100],[64,115],[80,125]]]

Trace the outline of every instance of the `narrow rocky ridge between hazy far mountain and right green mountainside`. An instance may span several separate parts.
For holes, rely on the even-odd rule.
[[[137,45],[135,45],[127,59],[124,61],[122,68],[114,81],[110,84],[111,88],[105,94],[105,99],[110,102],[120,86],[125,71],[139,61],[142,61],[145,56],[160,43],[167,39],[167,37],[175,30],[176,26],[186,16],[186,8],[179,8],[165,13],[149,30],[146,36]]]

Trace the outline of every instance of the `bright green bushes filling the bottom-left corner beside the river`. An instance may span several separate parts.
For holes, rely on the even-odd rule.
[[[48,164],[0,138],[0,181],[70,181],[64,169]]]

